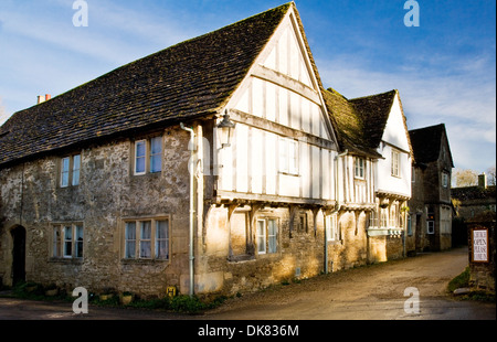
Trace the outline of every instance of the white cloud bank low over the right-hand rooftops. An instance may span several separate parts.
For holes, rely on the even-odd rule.
[[[495,163],[495,62],[486,56],[470,62],[427,58],[433,70],[412,63],[395,71],[372,71],[362,66],[366,61],[349,56],[317,64],[325,87],[348,98],[399,89],[410,129],[445,124],[454,162],[485,170]]]

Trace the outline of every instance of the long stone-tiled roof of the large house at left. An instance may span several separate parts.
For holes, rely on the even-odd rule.
[[[121,66],[15,113],[0,128],[0,165],[226,104],[293,2]]]

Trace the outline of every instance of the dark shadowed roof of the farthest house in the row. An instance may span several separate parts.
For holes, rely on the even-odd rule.
[[[416,162],[421,163],[429,163],[438,159],[442,139],[447,136],[444,124],[412,129],[409,135]]]

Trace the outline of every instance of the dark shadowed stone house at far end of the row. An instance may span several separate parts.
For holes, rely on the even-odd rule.
[[[409,131],[414,151],[406,248],[452,247],[451,177],[454,162],[444,124]]]

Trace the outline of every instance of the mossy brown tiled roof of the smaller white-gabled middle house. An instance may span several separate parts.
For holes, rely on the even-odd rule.
[[[341,149],[381,157],[381,142],[396,90],[347,99],[332,88],[322,92]]]

